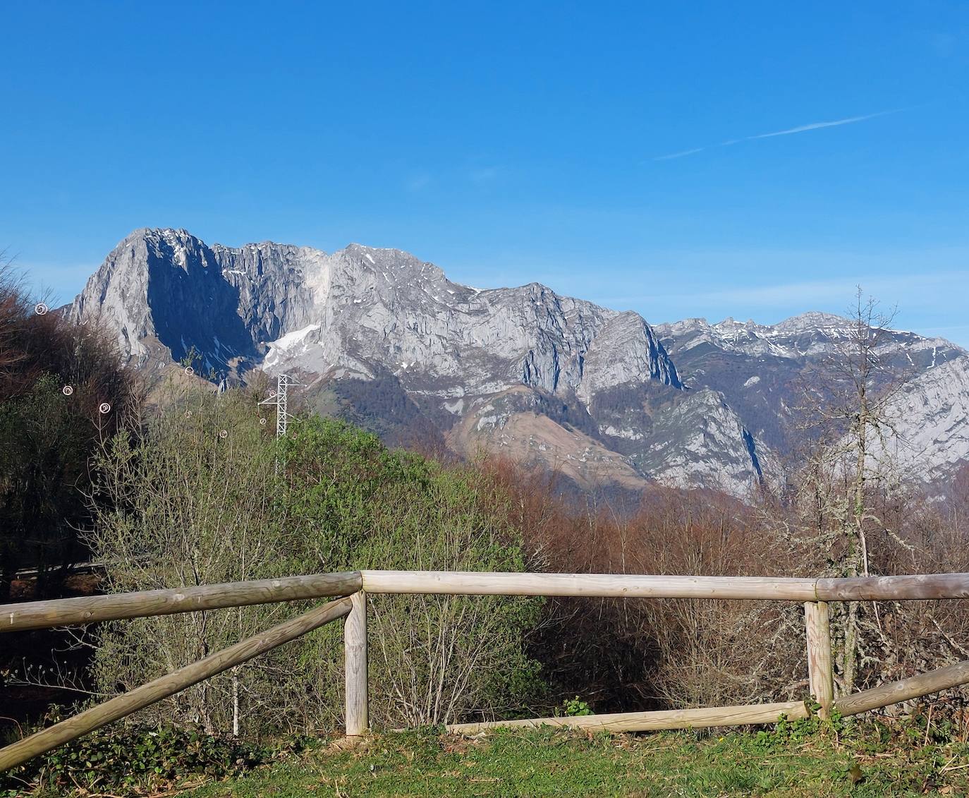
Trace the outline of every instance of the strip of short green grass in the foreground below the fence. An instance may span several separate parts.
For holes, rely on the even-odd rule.
[[[845,743],[833,733],[689,732],[588,736],[542,729],[464,739],[383,734],[352,750],[295,759],[181,794],[195,798],[378,795],[969,794],[969,747],[897,738]],[[171,793],[170,793],[171,794]]]

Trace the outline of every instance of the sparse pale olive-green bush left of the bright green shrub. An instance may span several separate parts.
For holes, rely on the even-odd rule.
[[[172,389],[173,391],[173,389]],[[112,563],[107,591],[138,591],[291,573],[282,517],[274,512],[270,440],[255,403],[228,394],[167,397],[140,436],[119,434],[98,460],[89,543]],[[222,432],[225,431],[225,436]],[[203,658],[291,614],[280,605],[105,623],[94,676],[102,690],[130,689]],[[147,713],[206,732],[259,715],[288,664],[255,660],[194,686]],[[299,702],[295,702],[297,705]]]

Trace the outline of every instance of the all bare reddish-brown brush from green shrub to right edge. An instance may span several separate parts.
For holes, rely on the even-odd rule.
[[[608,505],[577,510],[556,495],[553,478],[515,463],[491,459],[483,467],[511,496],[534,569],[816,576],[839,559],[842,544],[819,545],[817,518],[790,498],[744,504],[656,488],[624,516]],[[869,491],[884,524],[881,533],[869,533],[871,573],[969,570],[969,469],[946,501]],[[969,656],[967,605],[865,603],[856,687]],[[556,696],[578,694],[597,711],[780,700],[808,691],[803,612],[795,603],[553,598],[531,650]]]

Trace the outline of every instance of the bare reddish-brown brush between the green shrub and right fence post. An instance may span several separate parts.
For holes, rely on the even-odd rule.
[[[780,548],[770,529],[711,492],[656,489],[625,517],[609,507],[576,514],[534,485],[521,500],[526,539],[548,570],[759,576],[783,567],[767,556]],[[780,700],[806,685],[796,604],[559,597],[531,645],[553,689],[597,712]]]

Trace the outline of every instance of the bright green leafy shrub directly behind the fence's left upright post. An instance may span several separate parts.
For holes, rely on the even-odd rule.
[[[285,460],[289,523],[316,570],[525,569],[507,496],[480,470],[389,451],[322,418],[287,439]],[[372,718],[415,726],[513,711],[538,687],[523,637],[539,608],[520,597],[371,596]],[[332,648],[339,630],[329,636]],[[330,706],[338,676],[325,680]]]

